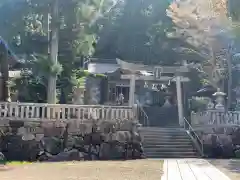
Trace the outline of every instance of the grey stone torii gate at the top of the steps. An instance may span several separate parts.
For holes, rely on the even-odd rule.
[[[184,77],[184,73],[189,72],[186,66],[147,66],[143,64],[133,64],[117,59],[120,68],[130,72],[130,75],[121,75],[121,79],[130,80],[129,106],[133,106],[135,102],[135,82],[136,80],[144,81],[175,81],[177,91],[177,106],[179,125],[184,126],[183,100],[182,100],[182,82],[190,81],[188,77]],[[139,75],[142,71],[151,72],[148,76]],[[164,73],[172,73],[173,77],[163,76]]]

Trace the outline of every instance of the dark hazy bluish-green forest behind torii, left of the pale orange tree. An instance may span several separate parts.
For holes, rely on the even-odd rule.
[[[168,6],[158,0],[120,3],[103,21],[95,56],[165,65],[181,60],[174,51],[179,42],[167,36],[173,27]]]

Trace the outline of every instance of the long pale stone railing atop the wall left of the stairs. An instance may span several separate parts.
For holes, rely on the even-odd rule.
[[[136,120],[137,110],[129,106],[72,105],[1,102],[0,120]]]

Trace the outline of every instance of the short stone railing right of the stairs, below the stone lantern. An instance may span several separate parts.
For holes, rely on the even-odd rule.
[[[204,125],[240,125],[240,111],[208,110],[191,113],[192,126]]]

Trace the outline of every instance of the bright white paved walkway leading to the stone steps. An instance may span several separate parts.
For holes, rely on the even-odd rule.
[[[161,180],[231,180],[203,159],[167,159]]]

